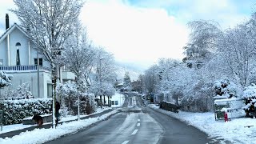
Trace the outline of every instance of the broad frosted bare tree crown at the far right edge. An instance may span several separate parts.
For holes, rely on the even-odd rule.
[[[232,75],[241,86],[248,86],[255,67],[254,41],[247,26],[240,25],[226,30],[219,42],[218,54],[222,56],[226,73]]]

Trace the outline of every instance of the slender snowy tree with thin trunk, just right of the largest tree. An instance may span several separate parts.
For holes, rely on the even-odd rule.
[[[96,50],[90,45],[90,42],[86,38],[86,31],[79,23],[74,27],[74,33],[66,41],[65,46],[66,50],[63,55],[65,56],[66,66],[76,76],[78,120],[80,120],[80,95],[78,91],[81,90],[82,86],[86,86],[87,76],[94,66]]]

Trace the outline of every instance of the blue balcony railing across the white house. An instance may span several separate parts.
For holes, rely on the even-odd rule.
[[[0,66],[0,70],[3,71],[25,71],[25,70],[38,70],[38,66]],[[39,66],[39,70],[48,70],[49,67]]]

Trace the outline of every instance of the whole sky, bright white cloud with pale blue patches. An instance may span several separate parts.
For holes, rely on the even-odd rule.
[[[87,0],[82,23],[90,39],[120,63],[146,70],[158,58],[182,59],[190,30],[186,23],[209,19],[223,29],[250,18],[253,0]],[[0,0],[0,32],[12,0]],[[10,14],[10,23],[18,18]]]

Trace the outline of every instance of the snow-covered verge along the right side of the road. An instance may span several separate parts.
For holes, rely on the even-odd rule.
[[[191,126],[209,134],[210,138],[219,139],[221,142],[230,141],[231,143],[255,143],[256,142],[256,119],[255,118],[235,118],[229,122],[215,121],[214,113],[190,113],[179,111],[173,113],[159,109],[158,106],[150,105],[154,110],[163,114],[178,118]],[[245,127],[245,126],[250,126]],[[222,140],[224,139],[224,140]]]

